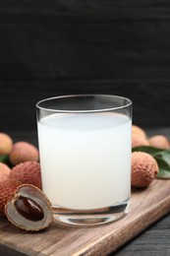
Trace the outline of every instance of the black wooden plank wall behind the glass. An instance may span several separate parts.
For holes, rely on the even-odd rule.
[[[0,3],[0,131],[35,131],[36,101],[111,94],[134,123],[170,126],[169,0]]]

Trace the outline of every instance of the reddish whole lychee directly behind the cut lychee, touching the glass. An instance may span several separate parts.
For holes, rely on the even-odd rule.
[[[25,161],[11,169],[9,178],[19,180],[22,184],[32,184],[42,188],[40,164],[37,161]]]

